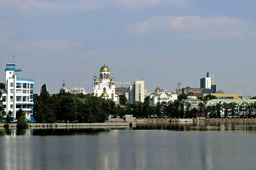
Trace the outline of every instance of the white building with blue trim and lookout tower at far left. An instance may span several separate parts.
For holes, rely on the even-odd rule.
[[[3,108],[6,113],[12,112],[12,117],[16,118],[16,112],[22,109],[25,113],[26,120],[34,120],[33,116],[33,79],[17,78],[16,72],[21,68],[16,68],[15,64],[6,64],[5,68],[5,89],[3,93]]]

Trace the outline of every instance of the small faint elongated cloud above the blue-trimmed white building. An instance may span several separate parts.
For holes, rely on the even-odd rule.
[[[23,50],[29,49],[46,49],[46,50],[61,50],[81,46],[81,42],[68,40],[27,40],[17,44],[17,48]]]

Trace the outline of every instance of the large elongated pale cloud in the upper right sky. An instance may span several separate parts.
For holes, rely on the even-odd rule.
[[[161,31],[187,31],[188,33],[204,33],[211,35],[238,36],[250,29],[250,21],[236,17],[172,16],[152,17],[142,23],[128,25],[132,33],[146,34]],[[235,31],[234,31],[235,30]]]

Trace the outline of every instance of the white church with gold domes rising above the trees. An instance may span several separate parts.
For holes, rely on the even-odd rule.
[[[111,99],[116,105],[119,105],[119,95],[116,94],[115,79],[110,78],[109,68],[104,65],[99,70],[99,79],[96,75],[93,77],[93,91],[91,96]]]

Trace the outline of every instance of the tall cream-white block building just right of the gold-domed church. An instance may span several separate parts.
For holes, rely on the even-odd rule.
[[[134,84],[129,86],[129,103],[144,102],[144,81],[143,79],[135,79]]]

